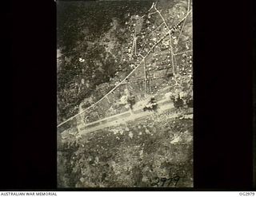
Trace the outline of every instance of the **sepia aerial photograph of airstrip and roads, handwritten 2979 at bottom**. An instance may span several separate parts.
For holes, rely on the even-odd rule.
[[[56,5],[58,187],[193,187],[192,0]]]

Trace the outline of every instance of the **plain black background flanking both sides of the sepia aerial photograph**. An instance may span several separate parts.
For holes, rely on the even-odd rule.
[[[191,190],[253,190],[253,7],[250,1],[194,0]],[[1,190],[56,189],[55,9],[54,0],[2,7],[8,19],[2,23],[2,49],[11,50],[3,53],[2,68],[11,70],[1,72],[2,87],[12,84],[11,93],[2,89],[2,97],[12,99],[2,102],[9,113],[1,128],[1,135],[7,134],[1,136],[1,144],[6,142]]]

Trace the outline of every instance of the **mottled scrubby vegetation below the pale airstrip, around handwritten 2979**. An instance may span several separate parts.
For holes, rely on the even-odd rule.
[[[172,114],[172,112],[170,112]],[[155,114],[64,143],[62,187],[191,187],[192,120]],[[154,121],[153,121],[154,120]],[[156,177],[179,177],[154,185]]]

